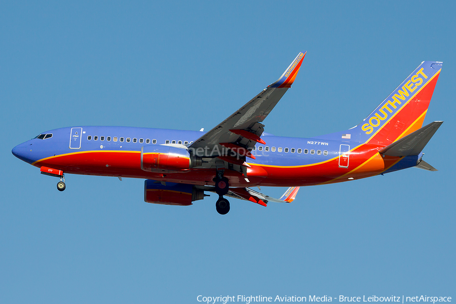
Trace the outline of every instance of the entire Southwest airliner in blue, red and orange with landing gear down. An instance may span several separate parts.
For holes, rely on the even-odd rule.
[[[225,197],[292,202],[299,186],[327,184],[409,167],[436,171],[422,150],[443,122],[423,126],[442,62],[424,61],[359,125],[314,138],[264,133],[263,120],[293,84],[305,54],[280,79],[207,133],[132,127],[77,126],[44,132],[13,148],[41,173],[144,178],[144,201],[192,205],[215,192]],[[280,199],[257,186],[291,186]]]

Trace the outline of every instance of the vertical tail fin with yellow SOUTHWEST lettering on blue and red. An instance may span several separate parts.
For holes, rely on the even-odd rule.
[[[431,101],[442,62],[423,61],[364,121],[347,131],[360,141],[389,145],[420,129]]]

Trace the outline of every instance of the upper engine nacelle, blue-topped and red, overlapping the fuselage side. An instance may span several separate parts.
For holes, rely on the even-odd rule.
[[[200,157],[191,156],[186,149],[167,145],[146,145],[141,148],[141,169],[185,170],[201,166]]]

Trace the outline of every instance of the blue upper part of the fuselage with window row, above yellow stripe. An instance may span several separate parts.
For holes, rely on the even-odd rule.
[[[203,134],[204,132],[199,131],[136,127],[66,127],[43,132],[41,136],[14,147],[12,153],[19,159],[33,164],[48,157],[80,151],[140,151],[145,145],[187,145]],[[340,144],[351,147],[359,144],[350,139],[327,140],[273,135],[263,135],[262,139],[266,144],[256,144],[252,151],[256,159],[248,159],[247,162],[273,166],[307,165],[337,157]]]

